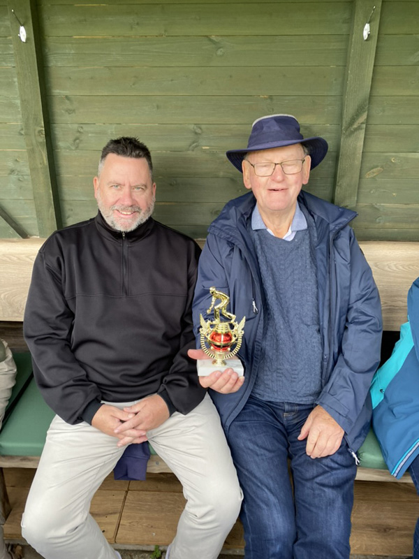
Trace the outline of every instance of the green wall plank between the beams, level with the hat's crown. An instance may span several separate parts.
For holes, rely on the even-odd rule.
[[[381,99],[381,98],[380,98]],[[392,102],[392,98],[389,103]],[[411,110],[418,111],[411,100]],[[260,115],[278,112],[298,115],[302,122],[311,124],[339,124],[341,99],[339,96],[49,96],[52,124],[247,124]],[[398,108],[404,110],[402,101]],[[390,109],[389,109],[390,110]],[[409,122],[406,108],[406,124]],[[397,113],[398,114],[398,113]],[[104,116],[106,115],[106,116]],[[0,107],[1,116],[1,107]],[[398,117],[399,118],[399,117]],[[419,115],[418,122],[419,124]],[[385,124],[378,122],[378,124]],[[416,124],[413,122],[413,124]]]

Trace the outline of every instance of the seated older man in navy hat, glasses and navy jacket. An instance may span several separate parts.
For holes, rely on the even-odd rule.
[[[231,369],[200,377],[221,415],[244,491],[247,559],[348,559],[355,451],[371,416],[381,306],[353,230],[355,212],[302,191],[325,157],[290,115],[253,123],[228,159],[251,193],[209,228],[194,324],[210,287],[246,317]],[[198,332],[196,332],[198,335]],[[203,358],[200,349],[190,350]],[[291,463],[293,486],[288,476]]]

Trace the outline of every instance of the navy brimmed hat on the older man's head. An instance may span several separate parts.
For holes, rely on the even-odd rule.
[[[226,156],[236,169],[242,171],[242,161],[248,152],[270,150],[272,147],[302,144],[307,146],[311,156],[311,169],[318,166],[328,152],[328,143],[323,138],[312,136],[304,138],[300,124],[293,115],[267,115],[260,117],[251,125],[247,147],[242,150],[228,150]]]

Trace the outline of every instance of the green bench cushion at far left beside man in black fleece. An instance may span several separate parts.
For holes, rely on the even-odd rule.
[[[3,456],[41,456],[54,412],[32,379],[0,433]]]

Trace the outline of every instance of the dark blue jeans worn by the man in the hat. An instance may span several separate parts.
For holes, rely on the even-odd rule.
[[[251,397],[230,426],[246,559],[349,558],[355,460],[346,442],[333,456],[307,456],[297,437],[312,409]]]

